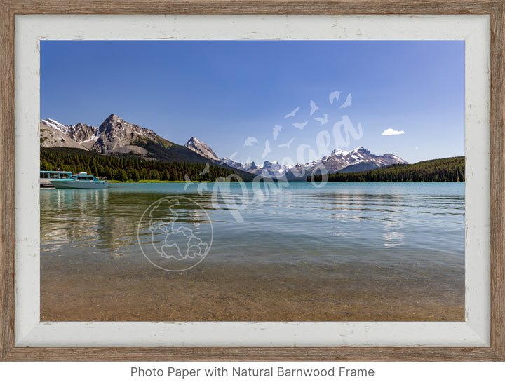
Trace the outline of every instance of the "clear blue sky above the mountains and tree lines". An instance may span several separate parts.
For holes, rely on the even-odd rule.
[[[41,118],[99,126],[112,113],[241,163],[358,146],[462,156],[464,41],[41,41]]]

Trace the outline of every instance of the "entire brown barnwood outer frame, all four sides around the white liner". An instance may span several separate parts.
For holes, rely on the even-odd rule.
[[[0,360],[505,360],[505,0],[463,1],[22,1],[0,3]],[[491,15],[490,348],[15,348],[15,14],[489,14]]]

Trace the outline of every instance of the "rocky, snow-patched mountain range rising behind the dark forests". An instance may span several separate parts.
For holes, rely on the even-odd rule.
[[[229,158],[220,158],[208,144],[191,137],[184,146],[170,142],[153,130],[124,121],[115,114],[99,126],[83,123],[63,125],[53,119],[40,121],[40,142],[44,148],[77,148],[112,156],[136,156],[147,160],[221,165],[241,174],[262,175],[272,178],[305,181],[312,171],[363,172],[392,164],[408,164],[393,154],[375,155],[363,147],[352,151],[335,149],[328,156],[296,165],[281,165],[277,161],[241,164]]]

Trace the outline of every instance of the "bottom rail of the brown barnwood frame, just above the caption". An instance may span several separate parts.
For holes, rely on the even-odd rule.
[[[490,348],[15,348],[9,361],[499,361]]]

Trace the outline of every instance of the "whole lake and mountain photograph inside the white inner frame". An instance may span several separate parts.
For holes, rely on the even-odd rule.
[[[464,321],[464,41],[41,41],[41,321]]]

